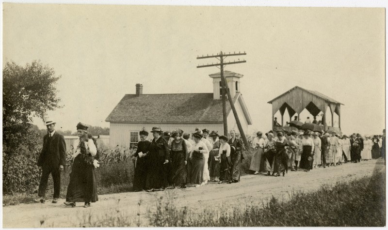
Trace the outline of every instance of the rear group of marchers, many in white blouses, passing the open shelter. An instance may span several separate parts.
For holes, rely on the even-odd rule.
[[[250,170],[255,171],[254,174],[285,176],[288,169],[309,172],[318,167],[385,157],[385,129],[383,133],[371,139],[355,133],[348,137],[336,132],[321,134],[308,130],[303,134],[296,130],[286,134],[278,131],[275,138],[270,131],[263,138],[262,132],[257,132],[252,141],[254,154]]]

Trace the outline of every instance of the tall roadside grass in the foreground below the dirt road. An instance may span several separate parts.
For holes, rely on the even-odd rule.
[[[146,221],[119,212],[86,223],[88,227],[383,227],[386,225],[385,174],[375,171],[353,181],[322,185],[311,193],[298,192],[289,201],[275,197],[263,206],[223,203],[193,212],[178,208],[171,192],[148,208]],[[234,202],[235,203],[235,202]],[[140,202],[139,202],[140,206]],[[140,220],[141,216],[138,214]],[[85,222],[80,226],[85,226]]]

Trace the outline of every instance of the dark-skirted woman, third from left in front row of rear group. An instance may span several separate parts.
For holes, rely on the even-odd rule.
[[[276,155],[275,155],[275,176],[278,177],[282,173],[285,176],[285,173],[288,172],[288,154],[286,152],[286,146],[288,146],[287,138],[283,136],[283,132],[277,132],[277,137],[275,138],[276,145]]]

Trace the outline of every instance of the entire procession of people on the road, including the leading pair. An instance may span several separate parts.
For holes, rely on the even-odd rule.
[[[54,199],[57,203],[60,193],[60,172],[66,164],[66,146],[64,137],[55,132],[55,122],[47,121],[48,134],[44,137],[43,149],[37,165],[42,167],[38,199],[45,202],[45,193],[49,174],[54,182]],[[99,167],[96,140],[87,132],[88,126],[77,124],[77,139],[73,154],[70,181],[67,187],[66,206],[75,207],[76,202],[84,202],[85,208],[98,200],[96,172]],[[209,181],[238,183],[244,145],[229,132],[230,138],[219,136],[208,129],[196,129],[189,133],[177,129],[172,133],[153,127],[150,131],[153,139],[147,140],[148,132],[139,132],[140,141],[133,157],[136,158],[133,189],[134,191],[160,191],[166,188],[186,188],[188,184],[199,187]],[[360,134],[346,135],[314,133],[305,131],[290,133],[269,131],[263,137],[257,132],[252,140],[253,155],[250,170],[254,174],[285,176],[291,171],[309,172],[318,167],[338,166],[347,162],[358,163],[361,160],[385,159],[385,129],[383,136],[375,135],[362,138]]]

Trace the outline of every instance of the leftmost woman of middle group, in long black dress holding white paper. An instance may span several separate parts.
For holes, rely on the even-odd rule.
[[[137,144],[137,150],[134,156],[136,160],[135,175],[133,179],[133,190],[138,192],[146,189],[146,176],[147,176],[147,152],[149,149],[150,141],[146,140],[148,132],[143,128],[139,132],[140,141]]]

